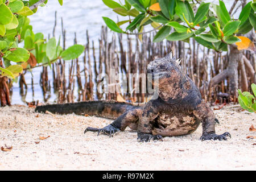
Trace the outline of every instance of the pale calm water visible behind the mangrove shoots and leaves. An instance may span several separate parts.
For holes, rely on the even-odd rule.
[[[217,0],[205,1],[218,3]],[[233,1],[228,2],[228,10]],[[57,0],[50,0],[46,7],[39,7],[38,12],[30,16],[31,24],[34,32],[42,32],[46,38],[52,36],[52,30],[55,22],[55,11],[57,11],[57,27],[55,31],[56,38],[61,34],[61,20],[63,18],[64,28],[67,31],[67,46],[73,45],[74,34],[77,34],[77,42],[79,44],[86,43],[86,29],[89,31],[90,40],[97,40],[100,37],[101,26],[104,25],[102,16],[108,16],[113,20],[117,20],[117,14],[104,5],[101,0],[73,0],[64,1],[60,6]],[[118,17],[122,20],[122,17]],[[22,98],[19,94],[19,85],[14,83],[12,104],[24,104],[24,101],[31,102],[34,100],[43,101],[42,89],[39,85],[40,71],[42,68],[33,69],[32,73],[25,75],[28,84],[27,96]],[[51,74],[49,72],[49,74]],[[34,96],[32,96],[31,77],[34,78]],[[51,76],[49,76],[51,78]],[[54,101],[56,96],[52,93],[49,101]]]

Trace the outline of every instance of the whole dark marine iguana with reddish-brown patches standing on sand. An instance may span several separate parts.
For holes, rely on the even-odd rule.
[[[155,59],[147,65],[152,77],[158,76],[158,98],[145,104],[129,104],[117,101],[85,101],[73,104],[45,105],[35,111],[46,110],[59,114],[89,114],[115,119],[110,125],[87,131],[109,134],[124,131],[126,127],[138,131],[138,140],[162,140],[163,137],[191,134],[203,124],[201,140],[226,140],[228,132],[217,135],[213,111],[201,98],[195,83],[181,69],[171,54]],[[154,84],[154,82],[153,82]]]

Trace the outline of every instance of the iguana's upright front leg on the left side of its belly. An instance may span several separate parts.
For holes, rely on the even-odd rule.
[[[159,106],[156,106],[157,100],[147,102],[142,110],[142,115],[138,123],[138,141],[149,142],[151,139],[162,140],[161,135],[152,135],[152,122],[159,115]]]

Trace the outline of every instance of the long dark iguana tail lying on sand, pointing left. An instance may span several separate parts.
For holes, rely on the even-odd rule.
[[[134,109],[142,104],[131,104],[128,102],[118,102],[112,100],[105,101],[84,101],[68,104],[53,104],[37,106],[36,112],[50,111],[57,114],[72,114],[77,115],[96,115],[102,118],[116,119],[127,110]]]

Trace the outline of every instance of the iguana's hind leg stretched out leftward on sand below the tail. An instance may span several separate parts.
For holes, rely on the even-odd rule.
[[[120,115],[117,119],[115,119],[115,121],[112,122],[110,125],[102,129],[88,127],[87,129],[85,129],[84,133],[86,133],[87,131],[96,131],[98,132],[98,135],[102,132],[105,134],[109,134],[109,137],[113,137],[114,133],[117,133],[118,131],[124,131],[127,126],[130,126],[132,129],[137,130],[139,114],[141,114],[140,108],[128,110]]]

